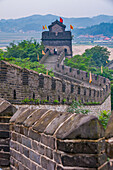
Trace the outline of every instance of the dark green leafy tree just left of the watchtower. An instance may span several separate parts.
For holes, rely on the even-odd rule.
[[[37,56],[39,59],[42,58],[42,50],[44,50],[43,44],[39,44],[35,39],[23,40],[18,44],[14,42],[10,43],[7,47],[7,51],[4,53],[5,58],[30,58],[31,61],[37,61]]]

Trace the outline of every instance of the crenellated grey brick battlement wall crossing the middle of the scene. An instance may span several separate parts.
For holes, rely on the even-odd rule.
[[[67,73],[77,75],[64,66],[64,74],[66,70]],[[80,71],[79,79],[81,74]],[[85,74],[86,72],[82,76]],[[88,81],[88,78],[86,80]],[[86,87],[82,84],[39,74],[33,70],[22,69],[6,61],[0,61],[0,97],[12,103],[21,103],[25,98],[33,98],[40,101],[48,100],[51,104],[54,103],[54,100],[62,103],[63,99],[66,99],[67,104],[73,100],[101,104],[110,94],[110,81],[105,79],[106,82],[104,82],[104,78],[101,76],[97,81],[101,83],[99,88],[94,88],[92,85]]]

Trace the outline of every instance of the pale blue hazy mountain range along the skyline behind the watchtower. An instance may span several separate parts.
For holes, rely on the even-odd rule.
[[[99,15],[92,18],[65,18],[64,24],[69,29],[70,24],[74,28],[86,28],[100,23],[113,23],[113,16]],[[1,32],[28,32],[28,31],[42,31],[42,25],[50,25],[56,19],[59,20],[59,16],[56,15],[33,15],[29,17],[19,19],[1,19],[0,20],[0,31]]]

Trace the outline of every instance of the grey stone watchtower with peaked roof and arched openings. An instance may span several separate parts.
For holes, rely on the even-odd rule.
[[[49,31],[42,33],[42,42],[45,51],[50,50],[50,54],[60,54],[65,51],[67,56],[72,56],[72,36],[71,31],[65,31],[66,26],[56,20],[48,26]]]

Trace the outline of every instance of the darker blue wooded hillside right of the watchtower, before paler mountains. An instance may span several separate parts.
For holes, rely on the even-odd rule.
[[[75,29],[75,35],[98,35],[103,34],[104,36],[112,37],[113,36],[113,23],[101,23],[99,25],[94,25],[87,27],[85,29]]]

